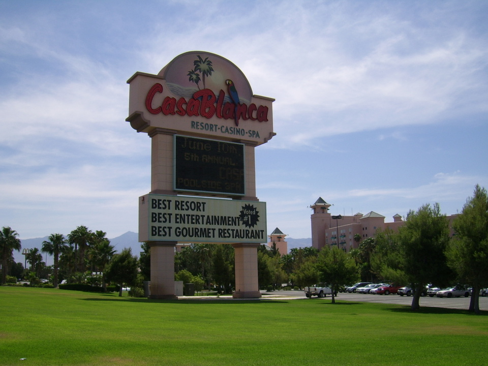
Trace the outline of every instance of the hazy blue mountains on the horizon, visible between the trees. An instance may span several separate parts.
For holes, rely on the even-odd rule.
[[[42,238],[33,238],[33,239],[21,239],[22,249],[20,252],[14,251],[14,260],[16,262],[21,262],[25,266],[25,257],[22,255],[22,251],[24,249],[34,249],[38,248],[41,250],[42,242],[48,240],[49,236],[44,236]],[[115,251],[121,252],[124,248],[131,248],[132,254],[139,257],[141,252],[141,243],[139,242],[139,234],[133,231],[128,231],[125,234],[120,236],[114,237],[109,239],[111,245],[115,247]],[[292,248],[304,248],[304,247],[311,247],[312,246],[312,238],[302,238],[302,239],[294,239],[287,237],[285,239],[288,243],[288,252]],[[52,265],[53,259],[52,256],[46,255],[46,253],[42,253],[44,260],[46,261],[47,265]]]

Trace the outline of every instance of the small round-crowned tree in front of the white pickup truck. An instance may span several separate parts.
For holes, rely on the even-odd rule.
[[[349,285],[357,280],[356,262],[338,247],[324,247],[319,253],[318,269],[320,280],[330,285],[332,303],[340,286]]]

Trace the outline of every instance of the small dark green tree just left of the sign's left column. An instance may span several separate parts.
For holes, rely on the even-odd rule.
[[[132,255],[131,248],[125,248],[115,254],[107,266],[107,279],[120,286],[118,295],[122,296],[124,284],[132,286],[137,282],[137,258]]]

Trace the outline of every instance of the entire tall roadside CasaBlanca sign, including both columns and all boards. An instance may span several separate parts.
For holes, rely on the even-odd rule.
[[[174,298],[178,242],[230,244],[238,298],[260,297],[257,248],[266,204],[256,197],[254,148],[270,140],[274,99],[254,95],[229,60],[176,56],[129,80],[127,121],[151,137],[151,191],[139,197],[139,241],[150,247],[150,293]]]

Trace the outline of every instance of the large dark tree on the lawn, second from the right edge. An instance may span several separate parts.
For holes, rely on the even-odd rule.
[[[420,294],[429,283],[442,284],[452,272],[447,266],[445,251],[449,243],[449,227],[439,204],[410,210],[405,225],[399,229],[401,269],[415,289],[412,310],[420,309]]]

